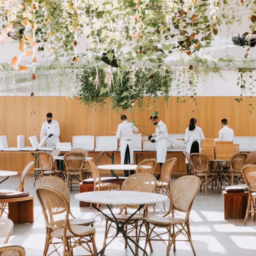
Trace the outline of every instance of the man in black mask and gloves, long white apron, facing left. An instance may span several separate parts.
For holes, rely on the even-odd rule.
[[[156,133],[148,136],[148,140],[150,140],[152,143],[156,142],[156,160],[157,163],[159,163],[161,169],[163,163],[166,160],[167,154],[167,127],[164,122],[159,120],[158,116],[150,116],[150,120],[152,124],[157,125],[157,127]],[[156,178],[159,179],[160,175],[158,175]]]

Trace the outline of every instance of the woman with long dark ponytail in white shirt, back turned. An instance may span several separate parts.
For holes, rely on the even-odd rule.
[[[185,142],[187,142],[186,151],[188,154],[199,153],[201,151],[200,140],[204,139],[204,133],[202,129],[196,126],[196,118],[191,118],[189,126],[185,132]],[[188,160],[186,158],[186,163]]]

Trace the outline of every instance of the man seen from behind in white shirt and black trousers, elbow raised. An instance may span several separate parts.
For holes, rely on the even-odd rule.
[[[127,121],[125,115],[121,116],[122,123],[118,125],[116,138],[120,139],[120,154],[121,154],[121,164],[133,164],[133,132],[139,132],[139,129],[131,122]],[[130,175],[134,173],[130,170]],[[129,171],[124,170],[124,177],[129,176]]]

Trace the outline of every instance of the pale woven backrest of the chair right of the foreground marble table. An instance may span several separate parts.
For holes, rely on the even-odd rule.
[[[182,176],[176,180],[171,188],[170,209],[187,212],[187,220],[199,186],[200,179],[196,176]]]

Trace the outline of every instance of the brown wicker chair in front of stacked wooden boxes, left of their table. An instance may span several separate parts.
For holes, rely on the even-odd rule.
[[[195,176],[200,180],[200,192],[205,190],[205,195],[207,196],[208,186],[213,183],[217,188],[217,193],[219,193],[218,183],[217,183],[217,172],[209,172],[209,159],[207,156],[201,153],[193,153],[189,155],[189,159],[193,165],[193,171]]]

